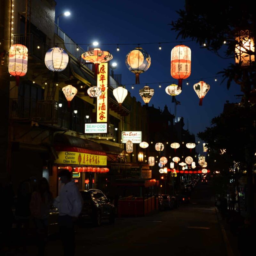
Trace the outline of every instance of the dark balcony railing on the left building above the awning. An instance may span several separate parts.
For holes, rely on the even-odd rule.
[[[10,119],[33,120],[69,129],[69,112],[63,112],[54,100],[10,99]]]

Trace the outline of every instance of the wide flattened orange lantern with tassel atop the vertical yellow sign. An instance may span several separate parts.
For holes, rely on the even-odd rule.
[[[99,64],[108,62],[113,58],[109,52],[102,51],[100,48],[95,48],[94,50],[84,52],[81,57],[82,59],[92,62],[95,65],[95,79],[97,79],[97,75],[99,74]]]

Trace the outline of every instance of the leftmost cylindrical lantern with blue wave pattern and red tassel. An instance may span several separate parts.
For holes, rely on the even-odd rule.
[[[10,47],[8,70],[15,76],[18,86],[20,76],[25,76],[28,71],[28,48],[25,45],[13,44]]]

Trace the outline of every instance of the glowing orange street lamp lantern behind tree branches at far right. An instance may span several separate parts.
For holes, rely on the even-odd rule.
[[[240,30],[236,35],[235,40],[238,44],[235,46],[236,64],[242,67],[252,65],[254,54],[249,54],[248,51],[254,52],[254,37],[249,30]]]

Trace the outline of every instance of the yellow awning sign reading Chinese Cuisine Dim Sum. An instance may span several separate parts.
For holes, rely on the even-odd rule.
[[[55,164],[107,165],[107,156],[69,151],[57,151],[57,154],[59,158],[54,161]]]

